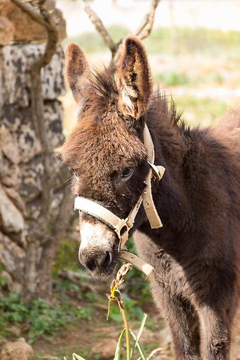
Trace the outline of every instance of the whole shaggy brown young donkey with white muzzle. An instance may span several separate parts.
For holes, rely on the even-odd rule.
[[[229,359],[240,276],[240,108],[217,126],[188,129],[172,102],[152,91],[146,51],[126,38],[116,69],[90,72],[70,44],[67,80],[79,123],[62,148],[76,175],[75,192],[126,218],[149,170],[145,124],[157,165],[153,201],[163,227],[151,229],[143,207],[132,233],[138,254],[156,270],[151,290],[170,325],[176,359]],[[116,265],[119,239],[107,225],[80,214],[80,261],[95,276]]]

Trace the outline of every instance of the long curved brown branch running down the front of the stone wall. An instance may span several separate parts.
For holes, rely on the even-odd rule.
[[[33,1],[26,4],[21,0],[11,0],[13,4],[16,4],[20,9],[30,16],[33,21],[41,23],[47,31],[47,43],[45,45],[45,50],[43,55],[40,55],[39,58],[34,60],[31,64],[31,109],[32,109],[32,119],[33,124],[36,129],[36,133],[40,139],[43,153],[43,165],[44,165],[44,185],[43,185],[43,207],[42,207],[42,226],[46,228],[47,223],[49,222],[50,215],[50,205],[53,200],[53,151],[50,148],[48,142],[48,133],[45,126],[44,119],[44,105],[43,105],[43,95],[42,95],[42,84],[40,77],[40,70],[42,67],[48,65],[50,60],[53,58],[53,55],[56,52],[57,43],[58,43],[58,31],[57,26],[53,22],[51,16],[51,11],[48,11],[45,8],[45,0],[38,0],[39,12],[36,11],[36,8],[33,6]],[[44,232],[43,232],[44,233]]]

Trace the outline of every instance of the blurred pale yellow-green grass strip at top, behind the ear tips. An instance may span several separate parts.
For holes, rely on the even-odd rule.
[[[110,26],[108,31],[115,41],[119,41],[129,33],[128,28],[118,24]],[[70,41],[79,43],[88,54],[109,51],[97,32],[81,33],[79,36],[68,38],[65,43]],[[175,28],[172,31],[170,28],[160,27],[153,30],[151,36],[143,40],[143,43],[150,55],[200,52],[218,55],[224,52],[230,58],[236,58],[240,54],[239,31],[206,28]]]

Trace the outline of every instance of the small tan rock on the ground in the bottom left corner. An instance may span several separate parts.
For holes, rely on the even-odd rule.
[[[6,342],[1,349],[1,360],[33,360],[34,352],[31,345],[21,337],[16,342]]]

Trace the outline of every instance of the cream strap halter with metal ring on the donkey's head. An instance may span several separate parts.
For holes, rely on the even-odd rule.
[[[146,146],[149,164],[148,174],[146,175],[146,178],[144,180],[144,184],[146,186],[144,187],[142,194],[138,197],[138,201],[136,202],[133,209],[131,209],[131,212],[129,212],[129,216],[126,217],[126,219],[121,219],[120,217],[117,217],[106,207],[103,207],[97,202],[89,200],[85,197],[75,197],[74,207],[75,210],[79,210],[84,212],[85,214],[89,214],[92,217],[95,217],[99,221],[106,224],[110,229],[113,229],[119,238],[119,251],[121,250],[120,257],[124,258],[126,261],[130,261],[131,263],[133,263],[134,266],[140,268],[141,271],[146,273],[147,276],[150,276],[153,271],[153,267],[143,261],[141,258],[138,258],[138,256],[124,250],[124,245],[129,239],[129,231],[133,227],[134,220],[141,206],[141,203],[143,203],[143,207],[148,217],[148,221],[151,225],[151,229],[158,229],[160,227],[163,227],[163,224],[160,220],[160,217],[158,216],[158,212],[153,202],[151,179],[153,178],[153,180],[159,181],[161,178],[163,178],[165,168],[163,168],[163,166],[154,165],[154,146],[151,134],[146,125],[143,131],[143,143]]]

